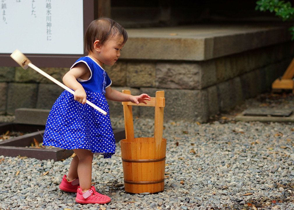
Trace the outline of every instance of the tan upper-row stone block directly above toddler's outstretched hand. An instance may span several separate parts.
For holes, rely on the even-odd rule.
[[[127,86],[129,87],[154,87],[156,68],[155,63],[132,63],[127,65]]]

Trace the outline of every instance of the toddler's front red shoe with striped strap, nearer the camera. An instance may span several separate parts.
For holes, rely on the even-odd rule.
[[[78,204],[107,204],[110,201],[111,199],[108,196],[96,192],[94,186],[86,192],[83,192],[83,190],[78,187],[76,193],[76,202]]]

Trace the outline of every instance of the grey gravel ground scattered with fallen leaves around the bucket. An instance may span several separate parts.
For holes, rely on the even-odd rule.
[[[234,119],[244,109],[260,106],[294,109],[294,97],[262,94],[205,124],[164,123],[163,192],[124,191],[119,143],[111,159],[95,157],[92,181],[112,199],[104,205],[76,204],[76,194],[59,189],[72,158],[54,162],[0,156],[0,209],[294,209],[294,123]],[[124,127],[123,119],[112,123]],[[135,119],[135,136],[153,136],[153,123]]]

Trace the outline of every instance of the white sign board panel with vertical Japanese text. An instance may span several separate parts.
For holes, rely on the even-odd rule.
[[[83,0],[1,0],[0,54],[83,54]]]

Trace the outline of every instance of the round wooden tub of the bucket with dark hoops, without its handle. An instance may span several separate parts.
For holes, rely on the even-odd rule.
[[[139,138],[138,141],[141,141],[141,143],[126,142],[125,139],[121,140],[126,192],[155,193],[164,189],[166,139],[163,139],[159,145],[160,152],[156,152],[156,143],[150,142],[152,139]],[[127,161],[124,161],[125,159]],[[161,161],[154,161],[154,159],[161,159]],[[132,160],[134,161],[132,162]],[[143,161],[138,162],[138,160]],[[148,162],[148,160],[152,162]]]

